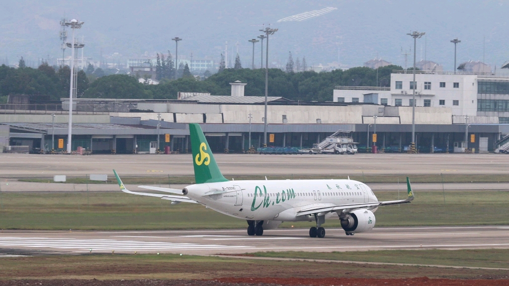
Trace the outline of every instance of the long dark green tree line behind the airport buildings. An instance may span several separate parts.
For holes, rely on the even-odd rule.
[[[182,67],[183,76],[177,80],[172,79],[175,66],[171,55],[165,59],[161,56],[157,66],[159,72],[156,67],[156,74],[161,79],[159,84],[140,83],[137,77],[126,74],[102,76],[91,81],[89,77],[97,69],[87,69],[87,72],[92,72],[89,77],[88,73],[80,70],[77,75],[78,98],[176,99],[178,92],[230,95],[229,83],[236,80],[247,83],[246,96],[265,94],[265,69],[241,68],[240,59],[237,68],[223,68],[204,80],[194,78],[185,66]],[[290,62],[287,69],[288,72],[275,68],[268,70],[269,96],[295,101],[331,101],[336,85],[389,87],[390,73],[402,67],[391,65],[379,69],[356,67],[345,71],[294,72]],[[9,94],[42,94],[49,95],[52,100],[60,100],[69,96],[69,77],[70,69],[67,66],[56,69],[46,63],[37,69],[0,66],[0,101],[6,101]]]

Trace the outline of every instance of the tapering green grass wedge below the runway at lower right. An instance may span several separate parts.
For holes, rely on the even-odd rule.
[[[509,268],[509,249],[461,250],[372,250],[347,252],[256,252],[254,256],[272,258],[323,259],[422,265]]]

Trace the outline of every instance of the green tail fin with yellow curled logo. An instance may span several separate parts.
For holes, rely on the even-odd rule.
[[[227,182],[216,164],[200,124],[190,123],[189,133],[196,184]]]

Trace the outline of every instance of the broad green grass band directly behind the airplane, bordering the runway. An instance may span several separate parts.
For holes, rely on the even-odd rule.
[[[401,193],[404,196],[404,192]],[[397,192],[376,192],[379,200]],[[418,192],[411,204],[385,206],[376,212],[377,226],[507,224],[509,192]],[[249,205],[246,198],[244,204]],[[0,228],[23,230],[171,230],[244,228],[246,222],[197,204],[122,192],[0,193]],[[281,227],[309,227],[312,222],[285,222]],[[340,227],[329,219],[325,227]]]

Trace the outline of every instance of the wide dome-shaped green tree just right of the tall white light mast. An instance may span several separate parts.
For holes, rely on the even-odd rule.
[[[133,98],[150,99],[151,93],[144,90],[143,83],[125,74],[103,76],[90,84],[83,98]]]

